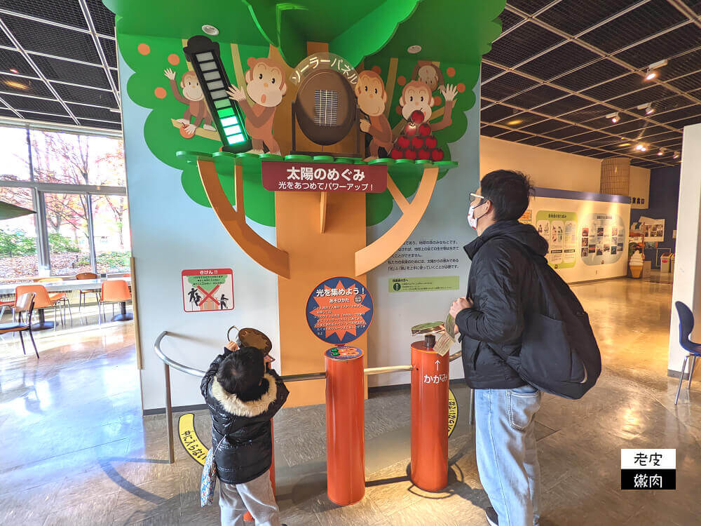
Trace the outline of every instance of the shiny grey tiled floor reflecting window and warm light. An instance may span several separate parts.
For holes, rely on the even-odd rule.
[[[605,370],[582,400],[546,396],[537,415],[543,526],[698,524],[701,392],[666,376],[671,285],[617,280],[578,285]],[[163,416],[142,418],[129,325],[43,338],[38,362],[0,343],[0,525],[215,525],[199,506],[201,468],[176,445],[168,464]],[[701,380],[699,381],[701,382]],[[288,525],[482,525],[467,390],[449,440],[449,486],[419,490],[407,476],[409,391],[374,394],[365,407],[366,493],[354,506],[325,495],[322,406],[275,417],[277,495]],[[176,415],[177,418],[177,415]],[[196,429],[210,443],[209,421]],[[622,447],[676,447],[674,492],[622,492]]]

